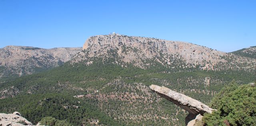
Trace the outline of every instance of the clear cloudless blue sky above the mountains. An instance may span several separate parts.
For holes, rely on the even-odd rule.
[[[256,0],[0,0],[0,48],[82,47],[92,35],[256,46]]]

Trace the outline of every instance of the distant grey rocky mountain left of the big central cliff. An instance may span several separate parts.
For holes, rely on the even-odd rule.
[[[37,48],[6,46],[0,48],[0,78],[22,76],[59,66],[82,48]]]

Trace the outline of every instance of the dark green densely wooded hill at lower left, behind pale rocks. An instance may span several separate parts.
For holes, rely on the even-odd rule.
[[[52,116],[58,120],[70,122],[74,126],[82,124],[90,126],[90,121],[96,118],[100,118],[99,124],[122,125],[90,104],[84,99],[63,94],[24,95],[2,99],[0,110],[5,113],[18,110],[23,117],[34,124],[43,117]]]

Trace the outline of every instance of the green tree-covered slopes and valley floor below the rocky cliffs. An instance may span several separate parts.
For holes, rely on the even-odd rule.
[[[184,125],[188,113],[150,91],[149,85],[164,85],[207,104],[224,83],[249,83],[255,77],[242,70],[172,70],[160,64],[141,69],[94,61],[6,79],[0,83],[1,97],[13,98],[0,99],[0,112],[19,111],[34,124],[51,116],[74,126],[95,120],[105,125]]]

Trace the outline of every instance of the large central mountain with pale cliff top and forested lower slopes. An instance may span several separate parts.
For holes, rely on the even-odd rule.
[[[83,50],[50,70],[0,82],[0,112],[20,112],[74,126],[184,126],[188,113],[158,96],[164,86],[208,104],[235,79],[254,81],[255,59],[178,41],[97,35]]]

